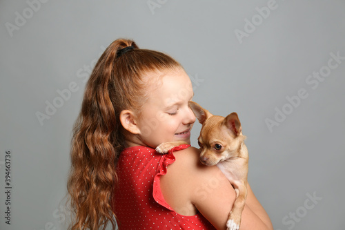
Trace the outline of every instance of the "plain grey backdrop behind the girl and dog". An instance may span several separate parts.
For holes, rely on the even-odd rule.
[[[245,31],[245,19],[259,20],[256,8],[271,1],[150,2],[157,8],[148,1],[50,0],[30,15],[27,1],[0,1],[0,229],[65,228],[68,212],[59,205],[87,68],[119,37],[180,61],[194,79],[194,100],[211,113],[239,114],[248,180],[275,229],[345,229],[345,60],[317,88],[306,82],[327,66],[331,52],[345,56],[345,1],[277,0],[242,44],[235,30]],[[21,26],[9,32],[16,12],[28,19],[17,19]],[[71,82],[75,92],[41,125],[36,113],[45,113],[46,101]],[[275,120],[276,107],[288,109],[286,97],[302,88],[308,97],[270,131],[265,120]],[[3,217],[7,149],[11,225]],[[313,193],[322,200],[306,209]],[[300,218],[288,216],[296,212]]]

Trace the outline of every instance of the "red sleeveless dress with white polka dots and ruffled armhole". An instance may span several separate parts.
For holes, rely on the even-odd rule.
[[[174,151],[160,154],[153,148],[134,146],[122,151],[117,164],[119,184],[115,189],[113,209],[122,229],[215,229],[201,213],[181,215],[164,200],[159,178],[175,161]]]

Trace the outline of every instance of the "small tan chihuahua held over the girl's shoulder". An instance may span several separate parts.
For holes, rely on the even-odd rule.
[[[195,117],[201,126],[198,144],[200,146],[200,161],[218,168],[228,178],[236,192],[233,204],[226,222],[228,230],[239,230],[242,211],[247,197],[248,150],[244,144],[246,137],[242,135],[242,126],[237,113],[230,113],[227,117],[211,114],[195,102],[189,102]],[[168,151],[186,142],[166,142],[159,144],[156,151]]]

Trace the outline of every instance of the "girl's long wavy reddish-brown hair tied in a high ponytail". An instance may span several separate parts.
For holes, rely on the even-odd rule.
[[[134,49],[119,55],[127,46]],[[115,229],[116,165],[126,147],[119,114],[125,109],[139,111],[148,97],[151,73],[178,68],[182,67],[172,57],[139,49],[129,39],[117,39],[103,52],[72,130],[67,189],[73,215],[68,229],[106,229],[109,222]]]

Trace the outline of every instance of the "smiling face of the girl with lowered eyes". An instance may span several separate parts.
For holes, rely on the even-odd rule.
[[[148,99],[137,119],[141,145],[157,147],[163,142],[190,143],[195,115],[188,106],[193,98],[192,83],[184,70],[169,71],[149,86]]]

